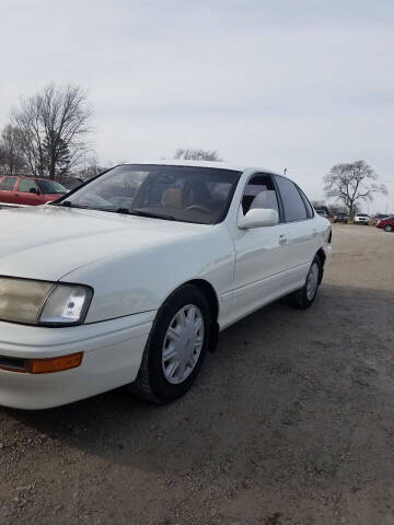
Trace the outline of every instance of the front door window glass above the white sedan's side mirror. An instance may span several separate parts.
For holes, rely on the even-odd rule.
[[[245,186],[242,197],[244,214],[254,208],[266,208],[279,213],[278,198],[270,175],[255,175]]]

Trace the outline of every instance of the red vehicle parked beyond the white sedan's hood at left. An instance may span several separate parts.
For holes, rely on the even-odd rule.
[[[38,206],[67,192],[61,184],[47,178],[0,177],[0,203]]]

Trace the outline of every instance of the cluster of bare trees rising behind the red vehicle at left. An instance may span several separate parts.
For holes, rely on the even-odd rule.
[[[1,131],[0,173],[61,180],[63,175],[81,171],[86,155],[92,164],[88,141],[91,116],[88,93],[80,86],[49,84],[43,92],[21,98]]]

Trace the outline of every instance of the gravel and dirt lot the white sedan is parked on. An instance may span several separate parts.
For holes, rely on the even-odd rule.
[[[182,400],[0,409],[0,523],[394,524],[394,234],[333,230],[314,307],[223,332]]]

